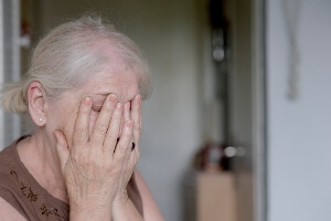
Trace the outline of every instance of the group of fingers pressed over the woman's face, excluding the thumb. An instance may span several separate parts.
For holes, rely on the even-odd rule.
[[[132,148],[132,143],[138,145],[141,125],[140,95],[137,95],[131,102],[132,109],[130,102],[124,105],[116,102],[116,95],[110,94],[107,96],[89,136],[88,125],[92,112],[92,99],[89,97],[83,99],[74,127],[74,146],[85,146],[89,140],[88,146],[102,147],[103,150],[108,149],[110,155],[117,152],[118,148],[119,151],[114,158],[118,157],[119,159],[126,156],[121,154],[127,154],[126,150]],[[122,120],[125,120],[125,123],[121,123]],[[136,120],[138,126],[135,126]],[[120,140],[117,144],[118,137],[120,137]]]

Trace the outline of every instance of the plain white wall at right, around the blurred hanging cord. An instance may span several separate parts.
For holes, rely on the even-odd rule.
[[[297,101],[281,2],[267,0],[268,221],[330,221],[331,1],[301,0]]]

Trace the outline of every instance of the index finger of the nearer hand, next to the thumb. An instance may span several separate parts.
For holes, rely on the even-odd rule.
[[[83,147],[88,141],[88,125],[90,109],[92,101],[89,97],[85,97],[81,103],[78,115],[74,126],[73,146],[75,147]]]

